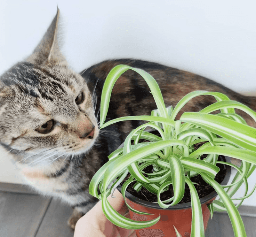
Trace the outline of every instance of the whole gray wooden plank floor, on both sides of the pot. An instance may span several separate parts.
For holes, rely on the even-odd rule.
[[[242,214],[250,207],[243,207]],[[71,208],[36,194],[0,192],[0,237],[72,237]],[[253,217],[254,216],[254,217]],[[256,237],[256,217],[242,217],[247,237]],[[234,236],[227,214],[214,213],[205,237]]]

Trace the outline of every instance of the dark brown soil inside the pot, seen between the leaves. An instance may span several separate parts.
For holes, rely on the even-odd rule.
[[[198,145],[195,145],[195,149],[198,149],[202,144],[198,144]],[[201,156],[201,159],[203,157]],[[218,160],[223,160],[223,157],[220,158]],[[220,172],[216,175],[215,177],[215,180],[218,182],[218,183],[221,183],[226,175],[226,167],[223,165],[223,164],[217,164],[217,166],[220,168]],[[148,167],[146,167],[143,171],[145,171],[146,173],[151,173],[152,172],[152,169],[153,169],[153,166],[152,165],[149,165]],[[124,179],[124,181],[126,181],[128,179],[128,177],[130,176],[130,174],[128,174],[126,176],[126,178]],[[146,175],[145,175],[146,176]],[[195,185],[196,187],[196,191],[198,193],[198,196],[199,198],[202,198],[208,194],[210,194],[214,189],[211,185],[207,184],[203,178],[201,177],[201,175],[197,175],[195,177],[192,177],[190,179],[192,182],[195,182],[197,183],[198,185]],[[124,181],[122,182],[122,184],[124,183]],[[133,188],[132,186],[135,184],[135,181],[132,182],[128,187],[127,187],[127,191],[142,199],[142,200],[145,200],[145,201],[148,201],[148,202],[157,202],[157,195],[149,192],[145,187],[142,187],[140,189],[140,191],[137,193]],[[163,192],[162,194],[160,194],[160,198],[162,201],[164,200],[167,200],[169,198],[173,197],[173,188],[172,188],[172,185],[170,185],[170,188],[169,190]],[[189,187],[186,183],[185,185],[185,194],[184,194],[184,197],[181,199],[180,203],[188,203],[190,202],[190,190],[189,190]]]

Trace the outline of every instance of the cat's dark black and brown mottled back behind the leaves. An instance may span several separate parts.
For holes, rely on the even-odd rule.
[[[100,101],[102,87],[108,73],[113,67],[120,64],[140,68],[151,74],[162,91],[166,106],[175,106],[189,92],[206,90],[221,92],[231,100],[244,103],[256,111],[255,97],[240,95],[220,83],[194,73],[136,59],[106,60],[81,72],[91,91],[96,92],[98,101]],[[181,113],[200,111],[214,102],[215,99],[212,96],[201,96],[185,105]],[[110,103],[111,114],[113,115],[110,116],[111,118],[148,114],[156,108],[148,85],[138,73],[132,70],[127,70],[117,80],[111,94]],[[240,114],[244,115],[242,111]],[[254,123],[251,125],[255,126]]]

